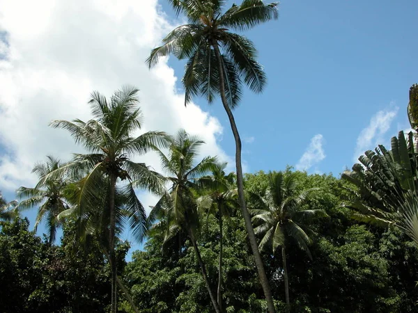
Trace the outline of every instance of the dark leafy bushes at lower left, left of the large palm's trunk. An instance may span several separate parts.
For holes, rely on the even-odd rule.
[[[109,266],[97,241],[77,246],[73,223],[60,246],[28,230],[26,219],[1,223],[0,312],[104,312],[110,304]],[[128,246],[119,249],[125,258]],[[121,268],[122,269],[122,268]]]

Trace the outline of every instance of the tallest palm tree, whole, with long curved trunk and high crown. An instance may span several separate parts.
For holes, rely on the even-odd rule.
[[[258,251],[251,216],[245,204],[241,165],[242,145],[231,111],[240,102],[242,83],[254,92],[261,93],[266,79],[263,67],[256,61],[257,50],[253,42],[229,30],[245,31],[277,18],[277,3],[265,4],[262,0],[244,0],[239,6],[233,4],[222,14],[226,3],[224,0],[169,0],[169,2],[177,13],[185,13],[189,24],[178,26],[171,31],[162,40],[164,45],[153,49],[147,63],[151,67],[161,56],[169,54],[174,54],[179,59],[187,58],[183,77],[185,104],[196,95],[203,95],[208,102],[213,102],[217,95],[221,97],[235,139],[238,199],[242,216],[268,310],[274,312],[270,285]]]

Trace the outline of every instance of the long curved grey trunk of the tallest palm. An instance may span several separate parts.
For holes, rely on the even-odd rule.
[[[233,113],[231,108],[226,101],[225,96],[225,79],[224,79],[224,70],[222,66],[222,58],[221,53],[219,51],[219,47],[217,42],[214,40],[212,42],[213,49],[215,49],[215,55],[218,61],[218,68],[219,68],[219,87],[221,91],[221,99],[222,104],[224,105],[224,109],[226,114],[229,118],[229,123],[231,124],[231,129],[233,133],[233,137],[235,138],[235,165],[237,168],[237,185],[238,185],[238,199],[240,201],[240,207],[242,216],[244,217],[245,227],[247,228],[247,234],[249,239],[249,244],[251,246],[251,250],[254,255],[254,261],[256,263],[256,268],[258,271],[258,278],[260,279],[261,286],[263,287],[265,300],[267,300],[268,312],[274,313],[274,303],[272,298],[272,291],[270,290],[270,284],[268,282],[267,275],[265,275],[265,270],[263,266],[263,260],[261,259],[260,251],[258,250],[258,244],[256,241],[256,235],[254,234],[254,228],[251,223],[251,216],[249,216],[249,212],[247,210],[247,205],[245,204],[245,197],[244,197],[244,183],[242,178],[242,165],[241,165],[241,138],[240,134],[238,133],[237,125],[235,124],[235,118],[233,118]]]

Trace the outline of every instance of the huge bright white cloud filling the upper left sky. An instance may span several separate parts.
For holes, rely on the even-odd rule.
[[[151,71],[144,63],[172,28],[157,0],[0,0],[0,7],[8,41],[0,45],[0,189],[31,186],[31,168],[46,154],[68,159],[81,151],[48,122],[88,120],[91,91],[109,96],[123,84],[140,89],[143,131],[183,127],[206,141],[202,157],[233,164],[217,144],[219,121],[194,104],[185,108],[167,60]],[[141,161],[160,170],[155,155]],[[144,196],[144,205],[153,200]]]

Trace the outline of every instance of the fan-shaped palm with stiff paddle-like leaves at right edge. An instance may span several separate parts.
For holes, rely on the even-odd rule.
[[[418,146],[415,134],[400,131],[391,150],[379,145],[359,157],[342,178],[357,186],[346,205],[353,218],[378,225],[397,225],[418,243]]]

